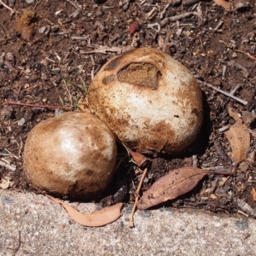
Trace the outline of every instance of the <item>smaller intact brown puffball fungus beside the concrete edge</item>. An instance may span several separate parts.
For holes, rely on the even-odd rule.
[[[32,129],[24,148],[24,169],[40,189],[90,197],[108,186],[116,155],[113,132],[96,116],[62,113]]]

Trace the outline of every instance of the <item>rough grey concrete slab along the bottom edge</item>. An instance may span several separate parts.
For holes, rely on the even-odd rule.
[[[75,204],[92,211],[94,204]],[[137,211],[129,228],[131,206],[113,224],[86,228],[43,195],[0,190],[0,255],[256,255],[256,220],[225,218],[199,211],[161,208]]]

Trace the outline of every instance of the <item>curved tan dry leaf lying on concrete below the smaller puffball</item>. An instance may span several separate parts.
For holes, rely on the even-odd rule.
[[[121,215],[121,208],[123,207],[122,203],[118,203],[113,205],[112,207],[106,207],[99,211],[91,212],[90,214],[84,214],[82,212],[78,212],[73,207],[70,207],[65,202],[56,199],[50,195],[46,195],[51,200],[59,203],[62,207],[67,211],[67,215],[69,218],[73,219],[73,221],[78,224],[87,226],[87,227],[101,227],[106,224],[110,224],[115,221]]]

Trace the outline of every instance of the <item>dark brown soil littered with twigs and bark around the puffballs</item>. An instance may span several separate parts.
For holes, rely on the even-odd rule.
[[[232,198],[237,198],[255,208],[256,8],[254,0],[235,2],[225,10],[213,1],[5,1],[15,12],[0,5],[1,187],[36,191],[22,170],[32,127],[65,109],[77,110],[91,79],[111,57],[150,46],[183,63],[195,79],[233,92],[246,104],[201,84],[205,113],[199,137],[183,154],[149,156],[143,191],[175,168],[234,167],[235,175],[208,175],[165,206],[234,213],[238,207]],[[250,131],[247,157],[238,165],[224,134],[236,122],[228,107],[241,114]],[[142,171],[124,155],[119,145],[119,168],[102,195],[103,204],[134,201]]]

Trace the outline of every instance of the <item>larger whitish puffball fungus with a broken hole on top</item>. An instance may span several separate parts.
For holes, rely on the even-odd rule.
[[[159,49],[113,57],[89,86],[90,109],[128,148],[177,153],[203,119],[201,89],[186,67]]]

